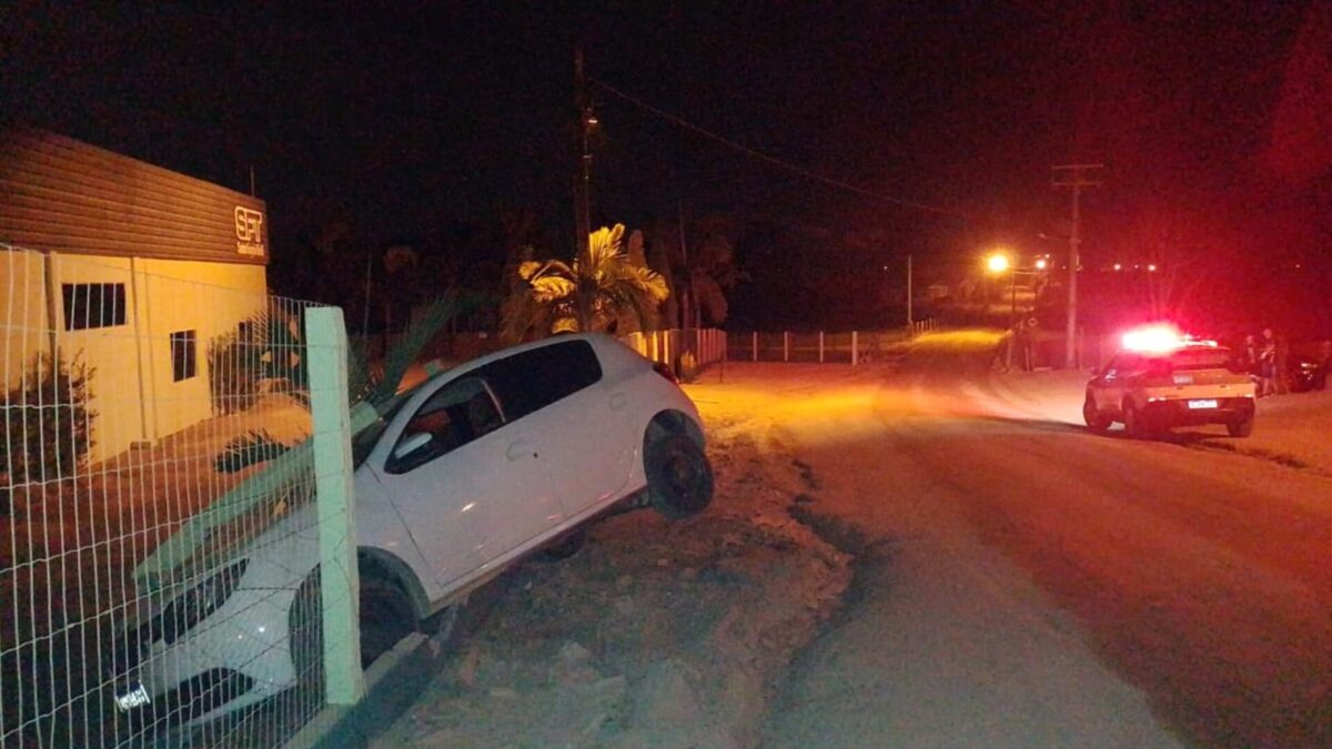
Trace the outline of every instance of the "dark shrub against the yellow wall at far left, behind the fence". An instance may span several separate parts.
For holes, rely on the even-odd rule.
[[[40,353],[24,369],[19,385],[0,402],[0,514],[9,514],[15,490],[69,478],[87,464],[92,424],[97,413],[89,369],[76,357],[65,364],[56,352]]]

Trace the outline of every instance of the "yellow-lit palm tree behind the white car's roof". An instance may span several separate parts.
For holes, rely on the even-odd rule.
[[[573,264],[526,260],[521,283],[503,303],[501,335],[521,341],[570,331],[630,333],[657,325],[657,307],[670,295],[666,280],[622,249],[623,224],[589,236]]]

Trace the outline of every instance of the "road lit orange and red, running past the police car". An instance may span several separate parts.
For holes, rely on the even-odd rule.
[[[755,404],[875,540],[765,745],[1332,746],[1332,481],[1026,418],[990,345]]]

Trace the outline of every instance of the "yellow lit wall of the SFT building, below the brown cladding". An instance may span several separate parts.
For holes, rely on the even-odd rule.
[[[52,337],[41,253],[15,251],[5,256],[0,284],[23,289],[9,295],[5,315],[5,386],[19,386],[23,372],[35,356],[49,351],[52,340],[67,364],[81,361],[93,368],[93,462],[210,417],[209,343],[237,331],[241,321],[268,305],[261,265],[55,255]],[[124,323],[68,329],[65,284],[123,284]],[[186,331],[194,333],[194,373],[176,380],[172,335]]]

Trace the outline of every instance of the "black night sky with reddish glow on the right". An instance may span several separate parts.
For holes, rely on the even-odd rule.
[[[1299,265],[1328,324],[1325,1],[485,5],[20,4],[0,21],[4,116],[245,192],[253,167],[274,253],[332,216],[374,247],[519,208],[557,252],[573,243],[581,45],[590,77],[655,108],[935,208],[777,168],[594,84],[594,223],[683,205],[763,227],[737,241],[781,244],[782,263],[836,265],[809,237],[852,232],[876,248],[855,263],[943,267],[995,243],[1062,251],[1039,239],[1067,232],[1050,167],[1100,161],[1088,265],[1166,244],[1259,299]]]

